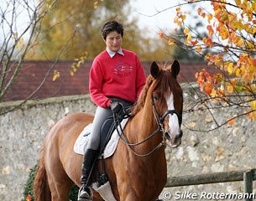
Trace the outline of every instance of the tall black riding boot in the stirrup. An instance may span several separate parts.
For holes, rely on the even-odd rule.
[[[91,196],[91,181],[88,181],[89,174],[93,162],[97,157],[97,150],[86,149],[84,159],[81,166],[81,188],[78,193],[78,201],[90,201],[92,200]]]

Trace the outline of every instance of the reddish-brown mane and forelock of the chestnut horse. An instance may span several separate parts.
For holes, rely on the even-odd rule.
[[[135,116],[138,113],[138,111],[140,111],[144,107],[149,88],[153,83],[154,90],[157,88],[161,89],[161,92],[165,93],[165,97],[167,95],[170,95],[171,92],[181,90],[177,80],[174,78],[173,75],[170,74],[170,65],[160,65],[159,69],[160,74],[157,79],[154,79],[152,75],[149,75],[147,77],[144,88],[141,91],[141,94],[138,96],[137,104],[132,109],[132,116]]]

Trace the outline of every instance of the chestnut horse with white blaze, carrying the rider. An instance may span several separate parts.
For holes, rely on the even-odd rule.
[[[123,129],[116,151],[105,160],[107,178],[116,200],[156,200],[165,188],[165,147],[181,143],[183,97],[177,81],[180,64],[153,62],[150,75]],[[82,156],[73,151],[76,138],[91,123],[85,112],[57,121],[44,138],[34,179],[35,201],[64,201],[74,183],[81,187]],[[97,161],[97,165],[101,162]],[[96,171],[96,170],[94,170]],[[93,191],[93,200],[103,200]]]

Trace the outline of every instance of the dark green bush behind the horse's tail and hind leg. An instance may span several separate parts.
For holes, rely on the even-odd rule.
[[[27,183],[25,183],[24,186],[24,200],[26,201],[34,201],[34,193],[33,193],[33,185],[34,185],[34,177],[36,175],[37,171],[37,165],[34,166],[30,170],[29,178],[27,180]],[[71,193],[69,195],[69,201],[76,201],[77,200],[77,194],[78,194],[79,188],[74,185],[71,188]]]

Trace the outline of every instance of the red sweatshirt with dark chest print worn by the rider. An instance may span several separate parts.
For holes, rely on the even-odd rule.
[[[146,78],[138,56],[122,50],[124,55],[117,53],[112,58],[105,50],[93,60],[89,90],[97,106],[110,106],[108,95],[133,103],[144,87]]]

